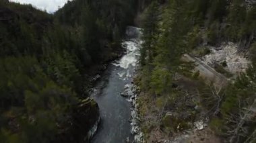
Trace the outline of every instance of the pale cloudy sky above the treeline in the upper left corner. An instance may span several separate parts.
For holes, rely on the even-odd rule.
[[[53,13],[58,7],[63,7],[68,0],[9,0],[17,3],[30,3],[39,9],[46,9],[46,11]]]

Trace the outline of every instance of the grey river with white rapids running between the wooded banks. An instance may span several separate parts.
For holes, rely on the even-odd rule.
[[[122,143],[131,134],[131,103],[121,96],[126,85],[131,84],[139,59],[141,30],[127,28],[127,39],[122,42],[124,56],[110,64],[94,88],[92,97],[100,107],[100,125],[92,143]]]

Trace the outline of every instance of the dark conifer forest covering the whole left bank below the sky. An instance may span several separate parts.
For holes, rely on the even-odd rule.
[[[74,0],[49,14],[0,1],[1,142],[84,140],[98,120],[92,77],[121,54],[131,7],[136,1]]]

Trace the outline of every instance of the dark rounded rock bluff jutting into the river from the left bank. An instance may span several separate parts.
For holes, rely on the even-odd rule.
[[[73,108],[71,119],[63,125],[55,142],[89,142],[96,133],[99,122],[98,104],[89,98],[81,100]]]

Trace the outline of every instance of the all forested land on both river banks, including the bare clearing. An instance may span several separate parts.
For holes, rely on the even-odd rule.
[[[90,142],[89,91],[127,26],[142,32],[136,142],[256,142],[253,0],[73,0],[55,13],[0,0],[0,142]]]

